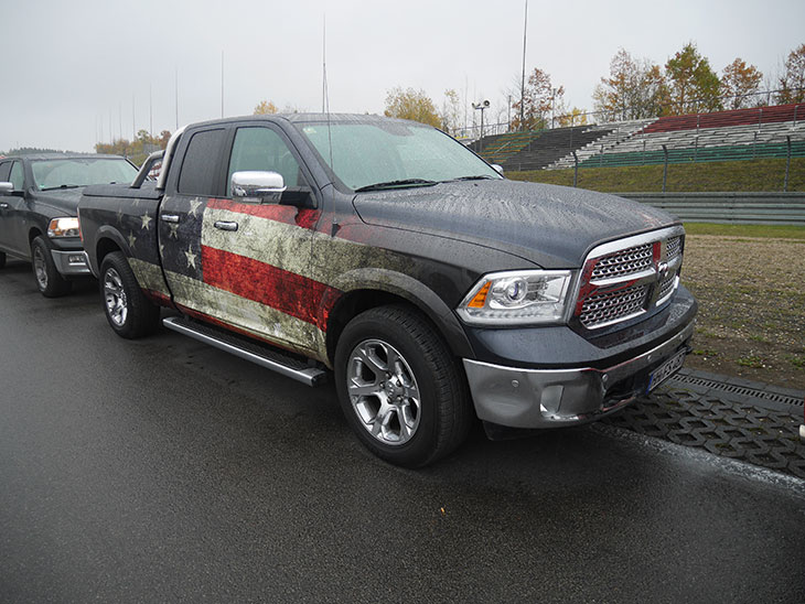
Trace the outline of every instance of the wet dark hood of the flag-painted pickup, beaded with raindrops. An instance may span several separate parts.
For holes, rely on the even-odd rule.
[[[353,204],[366,224],[470,241],[547,269],[579,268],[598,244],[675,223],[614,195],[508,180],[358,193]]]

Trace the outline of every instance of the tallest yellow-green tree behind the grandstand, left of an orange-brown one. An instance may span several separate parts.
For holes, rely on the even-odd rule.
[[[665,77],[668,82],[666,115],[721,109],[721,82],[710,68],[710,62],[699,54],[693,42],[685,44],[681,51],[668,60]]]

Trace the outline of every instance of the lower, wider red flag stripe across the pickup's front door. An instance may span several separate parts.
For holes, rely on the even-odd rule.
[[[341,291],[313,279],[206,246],[202,246],[202,273],[207,285],[266,304],[322,331],[341,296]]]

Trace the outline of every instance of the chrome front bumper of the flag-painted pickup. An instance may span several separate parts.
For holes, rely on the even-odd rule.
[[[644,392],[650,374],[689,350],[690,321],[654,348],[608,368],[525,369],[463,359],[477,417],[508,428],[584,423],[616,411]]]

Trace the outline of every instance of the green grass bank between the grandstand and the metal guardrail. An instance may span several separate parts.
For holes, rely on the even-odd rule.
[[[572,186],[573,170],[506,172],[508,179]],[[784,159],[668,164],[666,191],[782,191]],[[662,165],[579,169],[578,186],[603,193],[647,193],[663,188]],[[805,158],[792,158],[788,191],[805,191]]]

